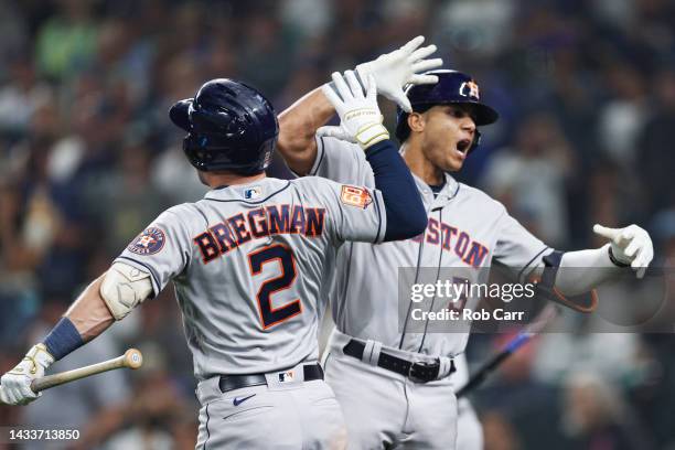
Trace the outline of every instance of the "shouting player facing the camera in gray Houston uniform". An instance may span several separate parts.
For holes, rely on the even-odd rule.
[[[610,240],[601,248],[554,250],[502,204],[458,183],[451,173],[479,146],[478,127],[497,120],[497,113],[481,103],[479,85],[465,74],[438,69],[411,75],[409,50],[420,40],[356,66],[361,79],[373,76],[378,92],[401,108],[396,136],[428,215],[428,228],[415,239],[353,243],[339,249],[331,294],[336,329],[324,369],[344,411],[350,448],[358,450],[456,448],[457,386],[451,374],[469,336],[409,332],[409,315],[399,329],[399,267],[479,269],[494,261],[534,276],[545,267],[550,267],[548,272],[607,268],[557,270],[557,276],[546,277],[547,288],[571,296],[591,291],[617,272],[617,266],[630,266],[642,277],[653,257],[650,236],[636,225],[597,225],[593,231]],[[404,92],[410,76],[438,83]],[[279,150],[298,174],[372,186],[373,172],[363,164],[358,146],[347,142],[341,128],[320,129],[333,116],[335,97],[326,84],[283,111]],[[485,272],[471,271],[476,277]]]

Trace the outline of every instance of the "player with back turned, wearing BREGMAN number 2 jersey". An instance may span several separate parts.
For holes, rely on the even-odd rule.
[[[345,240],[409,238],[427,224],[415,182],[382,125],[376,88],[336,77],[341,129],[371,165],[369,188],[265,175],[278,136],[251,87],[214,79],[171,119],[203,200],[162,213],[92,282],[46,339],[0,379],[24,405],[54,361],[104,332],[173,280],[202,404],[197,448],[343,448],[340,406],[318,364],[325,274]],[[354,114],[357,111],[357,114]]]

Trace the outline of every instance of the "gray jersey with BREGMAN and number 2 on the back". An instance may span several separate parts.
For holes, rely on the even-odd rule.
[[[264,179],[167,210],[117,260],[150,272],[154,296],[174,281],[199,379],[265,373],[317,360],[336,248],[385,226],[377,190]]]

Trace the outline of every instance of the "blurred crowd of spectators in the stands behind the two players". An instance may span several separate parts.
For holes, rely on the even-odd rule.
[[[418,34],[501,113],[459,179],[559,249],[636,223],[656,265],[675,258],[672,0],[0,0],[0,372],[161,211],[205,192],[171,104],[226,76],[281,111]],[[272,172],[289,175],[279,158]],[[472,338],[471,366],[507,338]],[[77,428],[83,449],[193,448],[171,289],[53,367],[128,345],[139,373],[0,408],[0,425]],[[543,336],[472,396],[486,449],[675,449],[673,349],[671,334]]]

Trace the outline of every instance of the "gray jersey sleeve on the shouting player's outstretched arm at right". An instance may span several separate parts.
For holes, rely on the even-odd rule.
[[[505,208],[497,221],[497,229],[493,254],[497,262],[521,271],[539,265],[548,247],[510,216]]]

